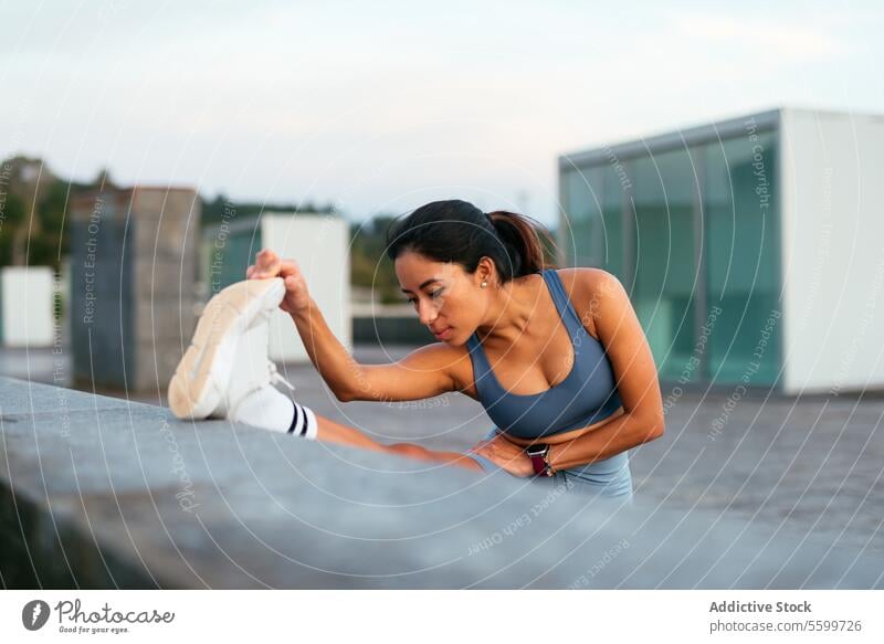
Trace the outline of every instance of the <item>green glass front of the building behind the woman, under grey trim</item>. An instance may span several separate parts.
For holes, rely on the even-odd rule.
[[[778,123],[765,113],[559,159],[564,263],[622,282],[661,381],[777,383]]]

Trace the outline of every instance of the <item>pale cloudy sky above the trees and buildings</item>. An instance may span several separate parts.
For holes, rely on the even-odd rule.
[[[562,154],[884,114],[876,4],[0,0],[0,157],[354,221],[459,198],[555,224]]]

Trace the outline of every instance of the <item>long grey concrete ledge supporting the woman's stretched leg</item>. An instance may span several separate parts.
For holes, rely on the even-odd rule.
[[[0,392],[6,588],[884,587],[878,557],[708,511]]]

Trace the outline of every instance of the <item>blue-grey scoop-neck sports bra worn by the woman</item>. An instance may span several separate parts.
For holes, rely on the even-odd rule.
[[[573,347],[573,367],[555,387],[533,394],[509,393],[497,381],[478,337],[466,341],[482,407],[501,431],[539,439],[599,422],[623,404],[604,348],[590,336],[555,268],[540,271]]]

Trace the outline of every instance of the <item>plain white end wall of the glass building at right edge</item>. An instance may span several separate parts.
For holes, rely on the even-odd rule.
[[[884,117],[785,109],[786,393],[884,388]]]

